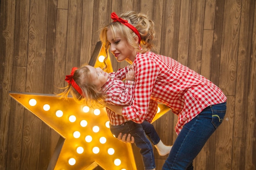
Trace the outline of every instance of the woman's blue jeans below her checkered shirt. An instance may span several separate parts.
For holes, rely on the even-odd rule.
[[[208,106],[183,126],[162,170],[193,170],[193,160],[222,123],[226,105],[224,102]]]

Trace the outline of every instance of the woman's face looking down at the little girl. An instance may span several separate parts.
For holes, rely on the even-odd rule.
[[[124,38],[119,35],[113,37],[110,30],[107,31],[107,38],[110,42],[110,51],[118,62],[126,60],[131,64],[135,60],[137,51],[129,46]]]

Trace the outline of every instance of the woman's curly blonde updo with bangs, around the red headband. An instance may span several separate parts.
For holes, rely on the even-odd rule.
[[[135,11],[126,11],[119,16],[124,20],[127,20],[129,24],[132,24],[141,36],[140,47],[135,42],[135,36],[137,36],[131,29],[120,22],[110,22],[101,29],[100,39],[102,46],[108,50],[110,42],[107,39],[107,31],[110,30],[113,37],[117,35],[126,39],[126,42],[130,44],[134,49],[140,53],[146,53],[151,51],[154,47],[153,40],[155,38],[154,22],[148,19],[148,16],[144,13],[135,13]]]

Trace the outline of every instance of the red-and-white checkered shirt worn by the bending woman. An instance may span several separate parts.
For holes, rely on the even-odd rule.
[[[208,79],[171,57],[153,52],[137,53],[133,62],[135,89],[132,105],[125,106],[122,115],[127,120],[142,123],[152,121],[155,113],[148,110],[150,98],[170,107],[178,116],[175,131],[196,117],[204,108],[226,101],[223,92]],[[124,77],[128,68],[120,72]]]

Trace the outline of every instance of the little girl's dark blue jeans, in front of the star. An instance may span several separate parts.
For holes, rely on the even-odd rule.
[[[127,121],[124,124],[118,126],[113,126],[110,124],[110,131],[116,137],[120,132],[123,135],[130,133],[130,135],[134,137],[135,145],[140,148],[145,170],[152,170],[156,167],[153,147],[146,137],[146,135],[148,135],[154,145],[158,144],[160,141],[160,138],[152,124],[148,123],[148,121],[144,121],[142,124],[136,124],[133,121]]]

